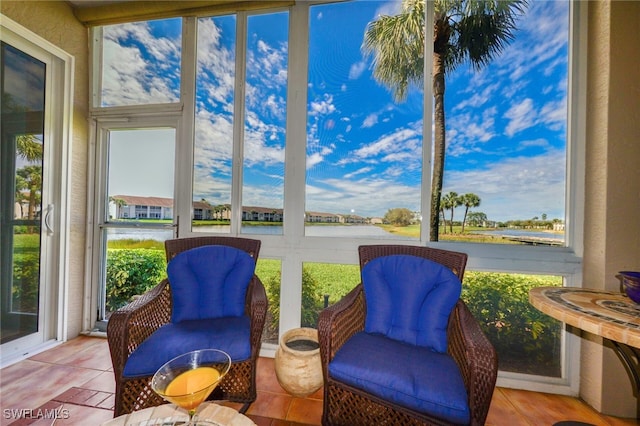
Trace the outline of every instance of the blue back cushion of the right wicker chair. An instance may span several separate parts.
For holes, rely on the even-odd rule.
[[[411,255],[375,258],[362,268],[365,331],[447,351],[447,323],[462,284],[449,268]]]

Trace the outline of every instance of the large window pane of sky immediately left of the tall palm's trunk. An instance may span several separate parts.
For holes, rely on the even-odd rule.
[[[394,238],[375,225],[389,223],[393,212],[406,216],[394,224],[420,221],[422,87],[394,100],[373,78],[371,58],[361,48],[367,25],[399,4],[310,9],[306,235]]]

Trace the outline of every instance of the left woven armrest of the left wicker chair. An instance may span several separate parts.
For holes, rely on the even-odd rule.
[[[116,377],[122,377],[129,355],[170,319],[171,290],[167,279],[111,314],[107,340]]]

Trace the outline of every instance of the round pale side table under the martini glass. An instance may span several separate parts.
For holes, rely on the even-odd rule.
[[[220,426],[256,426],[247,416],[230,407],[204,402],[196,413],[200,420],[208,420]],[[152,426],[171,424],[173,421],[188,421],[189,415],[174,404],[163,404],[157,407],[134,411],[102,423],[102,426]]]

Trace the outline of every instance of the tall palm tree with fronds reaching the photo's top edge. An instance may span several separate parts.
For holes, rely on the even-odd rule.
[[[527,0],[435,0],[433,27],[434,149],[431,181],[430,239],[438,241],[445,158],[445,73],[469,61],[480,69],[514,38],[516,18]],[[373,76],[389,87],[396,101],[424,77],[425,0],[404,0],[394,16],[367,26],[362,45],[373,55]]]

